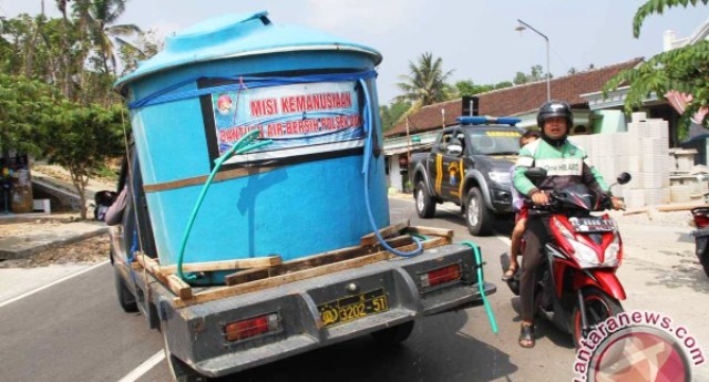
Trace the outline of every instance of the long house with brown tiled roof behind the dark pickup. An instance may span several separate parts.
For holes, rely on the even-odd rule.
[[[629,116],[624,114],[621,102],[590,110],[587,95],[597,94],[614,75],[643,62],[643,58],[636,58],[551,80],[551,97],[568,102],[574,111],[572,135],[618,133],[627,130]],[[443,126],[456,124],[456,117],[467,114],[516,116],[522,120],[520,127],[536,128],[536,112],[546,100],[546,81],[538,81],[422,107],[384,134],[390,186],[407,190],[409,154],[429,149],[438,132]],[[675,128],[678,114],[664,100],[648,100],[646,104],[648,117],[664,118],[669,122],[670,131]],[[672,143],[670,142],[670,146]]]

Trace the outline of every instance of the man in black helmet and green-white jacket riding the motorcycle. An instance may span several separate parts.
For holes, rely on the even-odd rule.
[[[585,184],[597,195],[608,193],[608,185],[596,168],[593,167],[583,148],[567,141],[568,132],[574,123],[574,115],[566,102],[549,101],[540,107],[536,122],[542,130],[542,140],[536,140],[520,149],[515,164],[513,184],[522,194],[532,199],[536,206],[547,205],[545,192],[561,190],[573,184]],[[535,185],[525,171],[530,167],[543,167],[547,171],[544,179]],[[613,207],[623,207],[620,200],[612,197]],[[527,230],[524,234],[526,246],[522,259],[522,279],[520,298],[522,300],[522,327],[520,345],[534,347],[534,287],[536,270],[543,264],[543,248],[551,239],[547,230],[548,217],[530,216]]]

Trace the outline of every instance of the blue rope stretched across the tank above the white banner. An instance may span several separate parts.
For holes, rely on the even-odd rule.
[[[176,84],[169,85],[157,92],[151,93],[141,100],[131,102],[129,103],[129,109],[131,110],[140,109],[144,106],[157,105],[161,103],[187,100],[187,99],[193,99],[193,97],[197,97],[206,94],[223,93],[223,92],[235,91],[235,90],[290,85],[290,84],[297,84],[297,83],[358,81],[358,80],[368,80],[376,76],[377,76],[377,72],[373,70],[357,72],[357,73],[312,74],[312,75],[301,75],[301,76],[274,76],[274,78],[195,76],[195,78],[187,79],[185,81],[181,81]],[[194,83],[195,81],[201,79],[238,81],[238,82],[228,84],[228,85],[219,85],[219,86],[212,86],[212,87],[204,87],[204,89],[192,89],[192,90],[172,93],[175,89]]]

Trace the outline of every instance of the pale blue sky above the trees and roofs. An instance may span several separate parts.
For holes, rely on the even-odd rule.
[[[37,14],[42,0],[0,0],[0,17]],[[54,0],[44,0],[59,17]],[[546,34],[554,76],[612,65],[662,51],[662,35],[678,38],[709,19],[709,7],[667,10],[645,20],[633,38],[633,17],[645,0],[131,0],[119,23],[167,35],[224,13],[268,11],[276,24],[318,29],[382,53],[377,68],[380,104],[401,94],[400,75],[424,52],[441,58],[450,82],[512,81],[533,65],[546,68],[546,42],[531,30],[515,31],[517,19]]]

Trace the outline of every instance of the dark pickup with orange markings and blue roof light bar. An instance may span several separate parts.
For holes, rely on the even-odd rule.
[[[518,118],[464,116],[439,134],[430,153],[411,156],[417,213],[431,218],[435,205],[461,207],[471,235],[492,231],[497,217],[511,215],[510,168],[520,151]]]

